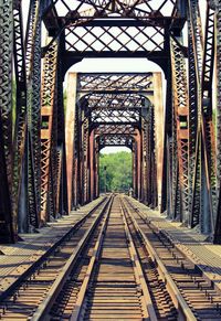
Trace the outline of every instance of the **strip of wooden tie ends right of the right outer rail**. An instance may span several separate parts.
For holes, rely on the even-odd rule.
[[[194,298],[197,296],[197,292],[194,292],[193,297],[191,297],[190,289],[183,286],[182,282],[180,282],[179,275],[171,271],[170,277],[177,283],[178,289],[183,293],[183,297],[186,298],[186,301],[191,306],[192,311],[197,313],[196,318],[200,320],[201,319],[209,320],[210,318],[211,319],[217,318],[215,320],[220,320],[221,293],[215,282],[213,282],[213,280],[211,280],[206,275],[203,269],[198,264],[196,264],[196,261],[192,260],[191,257],[187,256],[187,254],[181,248],[179,248],[176,245],[176,243],[173,243],[173,240],[171,240],[171,238],[168,236],[166,231],[159,229],[152,226],[150,223],[150,220],[148,220],[139,208],[137,208],[128,200],[127,202],[137,213],[137,215],[141,218],[141,221],[144,222],[144,225],[147,228],[149,228],[149,232],[154,233],[157,236],[158,238],[157,242],[164,245],[164,247],[168,250],[168,254],[170,253],[173,263],[177,261],[177,264],[178,263],[180,264],[180,266],[177,266],[177,268],[181,267],[181,269],[183,270],[182,276],[189,277],[189,282],[192,283],[192,287],[194,288],[194,290],[198,290],[198,300],[196,301]],[[155,228],[157,232],[155,232]],[[172,250],[170,248],[171,246],[172,246]],[[158,250],[159,250],[159,256],[160,256],[161,255],[160,247],[158,248]],[[167,260],[164,264],[164,256],[161,260],[162,260],[162,265],[167,269]],[[190,266],[193,266],[193,268]],[[176,264],[175,264],[175,267],[176,267]],[[187,278],[186,278],[186,281],[187,281]],[[196,288],[196,285],[197,285],[197,288]],[[199,298],[200,296],[201,296],[201,299]],[[201,303],[200,308],[199,308],[199,302]],[[208,308],[209,311],[204,311],[203,313],[203,306],[208,303],[211,304],[211,307]],[[209,317],[208,317],[208,313],[210,313]]]

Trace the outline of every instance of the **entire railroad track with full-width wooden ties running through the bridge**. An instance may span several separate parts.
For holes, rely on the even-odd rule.
[[[4,298],[1,320],[221,320],[212,283],[120,195],[45,263]]]

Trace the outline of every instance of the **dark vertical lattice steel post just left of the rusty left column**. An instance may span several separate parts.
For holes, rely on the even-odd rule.
[[[28,222],[25,231],[28,232],[39,227],[41,211],[41,6],[38,0],[30,1],[25,33],[25,66],[28,128],[19,220]]]

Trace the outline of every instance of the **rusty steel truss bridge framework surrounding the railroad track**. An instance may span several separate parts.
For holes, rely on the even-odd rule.
[[[220,1],[30,0],[27,26],[23,2],[0,1],[0,242],[97,197],[99,150],[127,146],[135,196],[221,243]],[[64,108],[85,57],[155,62],[165,108],[148,71],[71,73]]]

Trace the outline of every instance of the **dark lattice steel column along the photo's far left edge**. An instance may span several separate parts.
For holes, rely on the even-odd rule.
[[[12,217],[12,1],[0,1],[0,242],[14,242],[17,217]]]

